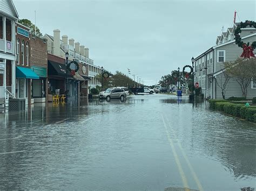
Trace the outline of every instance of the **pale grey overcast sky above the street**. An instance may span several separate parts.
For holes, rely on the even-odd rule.
[[[147,85],[214,46],[221,28],[232,26],[234,10],[237,22],[256,17],[255,0],[13,1],[20,19],[34,23],[36,10],[43,34],[59,29],[88,47],[95,65],[125,74],[129,68]]]

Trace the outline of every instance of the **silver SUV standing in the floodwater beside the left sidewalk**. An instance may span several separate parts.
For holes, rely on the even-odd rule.
[[[109,88],[104,93],[99,94],[100,99],[106,99],[110,101],[113,98],[119,98],[121,101],[126,99],[126,93],[124,89],[120,88]]]

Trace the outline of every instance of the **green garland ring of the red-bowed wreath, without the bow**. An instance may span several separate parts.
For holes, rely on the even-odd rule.
[[[235,29],[234,31],[234,36],[235,36],[235,44],[237,44],[239,47],[242,47],[242,45],[244,45],[245,43],[243,41],[241,41],[241,37],[240,37],[240,34],[242,31],[241,31],[241,28],[246,28],[247,26],[250,26],[250,27],[254,27],[256,29],[256,23],[252,20],[246,20],[245,23],[241,22],[240,25],[237,27],[237,29]],[[247,43],[247,46],[249,46],[249,43]],[[256,48],[256,41],[254,41],[252,44],[251,44],[251,47],[254,49]]]

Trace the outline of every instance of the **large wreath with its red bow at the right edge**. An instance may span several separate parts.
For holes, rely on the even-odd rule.
[[[245,44],[243,41],[241,41],[240,33],[241,28],[246,28],[247,26],[254,27],[256,29],[256,23],[254,21],[246,20],[244,23],[241,22],[240,25],[235,29],[234,36],[235,36],[235,44],[237,44],[239,47],[242,47],[241,57],[244,58],[250,58],[255,57],[253,54],[254,48],[256,48],[256,41],[253,41],[253,43],[250,45],[250,43]]]

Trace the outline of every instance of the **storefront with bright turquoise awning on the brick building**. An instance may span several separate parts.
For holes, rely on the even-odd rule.
[[[32,80],[39,80],[39,76],[35,72],[30,68],[16,67],[16,97],[25,98],[26,104],[31,103]]]

